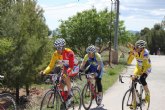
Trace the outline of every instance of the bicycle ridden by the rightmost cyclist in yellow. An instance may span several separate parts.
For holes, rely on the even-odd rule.
[[[124,83],[122,77],[133,78],[134,75],[119,75],[119,81]],[[136,78],[135,80],[131,79],[131,85],[129,89],[125,92],[122,100],[122,110],[128,109],[140,109],[140,110],[149,110],[150,102],[145,101],[145,93],[144,88],[139,80]],[[139,84],[140,88],[137,89],[137,83]],[[134,105],[134,108],[131,106]]]

